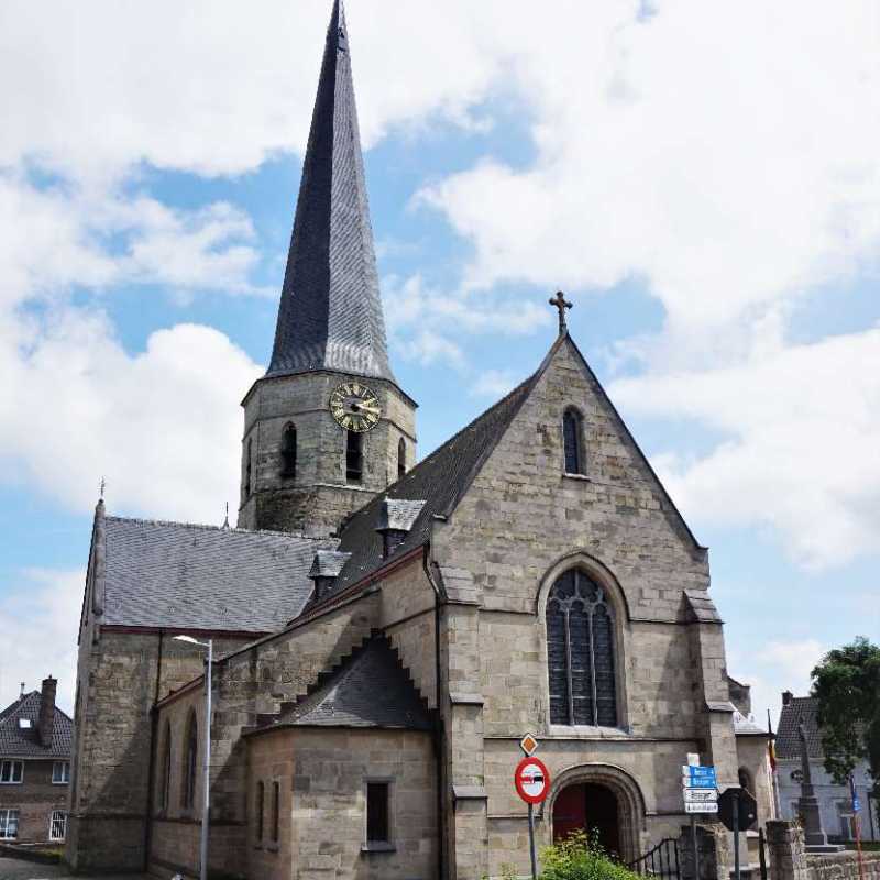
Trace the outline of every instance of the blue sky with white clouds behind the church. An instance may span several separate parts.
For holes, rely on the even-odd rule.
[[[547,299],[711,548],[759,721],[880,640],[880,7],[349,0],[425,455],[530,374]],[[99,483],[223,521],[329,0],[0,4],[0,705],[61,679]]]

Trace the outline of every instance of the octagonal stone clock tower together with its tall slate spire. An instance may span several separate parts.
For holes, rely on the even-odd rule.
[[[239,526],[324,535],[416,461],[388,363],[348,29],[327,33],[275,345],[243,402]]]

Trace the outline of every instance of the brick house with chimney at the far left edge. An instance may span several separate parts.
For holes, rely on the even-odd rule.
[[[0,840],[65,839],[74,724],[56,686],[50,676],[0,712]]]

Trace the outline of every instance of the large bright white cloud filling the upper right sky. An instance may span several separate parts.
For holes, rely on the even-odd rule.
[[[532,16],[512,51],[536,161],[424,191],[473,243],[470,284],[642,277],[686,336],[876,262],[878,7],[634,6]]]

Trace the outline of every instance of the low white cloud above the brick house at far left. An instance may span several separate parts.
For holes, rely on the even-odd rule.
[[[73,716],[77,632],[85,571],[30,569],[3,594],[0,628],[0,707],[19,696],[21,682],[38,691],[42,680],[58,680],[58,705]]]

